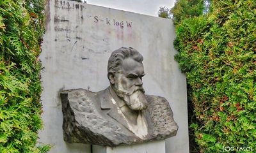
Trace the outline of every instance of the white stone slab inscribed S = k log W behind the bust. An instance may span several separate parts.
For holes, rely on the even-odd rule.
[[[170,102],[179,130],[177,136],[166,140],[166,152],[189,152],[186,77],[173,58],[177,52],[172,20],[73,1],[47,3],[40,55],[45,129],[39,137],[54,146],[50,152],[90,152],[90,145],[63,141],[60,91],[106,89],[108,58],[120,47],[133,47],[143,55],[146,94]]]

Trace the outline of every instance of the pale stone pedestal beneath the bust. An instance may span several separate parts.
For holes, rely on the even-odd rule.
[[[118,147],[92,146],[92,153],[165,153],[165,140]]]

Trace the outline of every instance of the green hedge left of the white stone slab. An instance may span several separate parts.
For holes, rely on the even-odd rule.
[[[44,0],[0,1],[0,152],[47,152],[40,94]]]

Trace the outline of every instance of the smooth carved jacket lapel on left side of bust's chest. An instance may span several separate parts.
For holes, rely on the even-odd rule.
[[[100,101],[100,107],[102,110],[109,110],[109,117],[116,120],[116,122],[122,124],[125,128],[129,129],[126,119],[118,113],[117,105],[114,105],[112,101],[115,101],[109,92],[109,88],[105,89],[104,97]]]

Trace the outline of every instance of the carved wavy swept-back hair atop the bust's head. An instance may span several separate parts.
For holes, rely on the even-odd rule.
[[[124,59],[131,57],[137,62],[143,61],[143,56],[136,49],[132,47],[121,47],[110,55],[108,59],[108,73],[115,73],[119,71]]]

